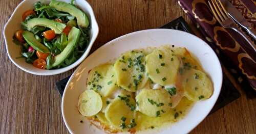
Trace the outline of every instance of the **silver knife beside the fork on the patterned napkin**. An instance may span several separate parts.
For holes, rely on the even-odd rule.
[[[228,15],[237,23],[239,23],[242,28],[244,28],[247,33],[256,40],[256,31],[253,29],[253,26],[246,21],[244,16],[234,7],[228,0],[220,0],[224,8],[227,10]]]

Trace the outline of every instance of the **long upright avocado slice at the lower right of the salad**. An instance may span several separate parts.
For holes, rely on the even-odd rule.
[[[68,45],[65,47],[65,49],[59,53],[57,56],[53,58],[53,63],[52,67],[56,67],[60,65],[62,62],[65,61],[70,56],[70,53],[73,52],[79,37],[81,35],[81,32],[79,29],[73,27],[71,31],[69,32],[69,37],[68,37]]]

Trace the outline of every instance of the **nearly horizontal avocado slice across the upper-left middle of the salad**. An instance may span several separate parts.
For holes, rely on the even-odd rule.
[[[63,24],[51,19],[47,19],[47,18],[32,18],[25,23],[25,26],[29,31],[32,30],[36,25],[50,28],[55,32],[55,34],[61,34],[63,29],[65,29],[66,27],[66,24]]]

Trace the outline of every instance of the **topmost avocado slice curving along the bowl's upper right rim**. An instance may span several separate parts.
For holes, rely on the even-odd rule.
[[[65,2],[59,2],[52,0],[49,4],[51,7],[55,8],[58,11],[69,13],[76,17],[77,24],[82,28],[87,28],[89,25],[89,20],[86,14],[80,9],[76,8],[71,4],[67,4]]]

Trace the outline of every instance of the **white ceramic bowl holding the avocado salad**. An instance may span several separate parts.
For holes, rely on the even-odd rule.
[[[70,0],[58,0],[70,3]],[[89,17],[90,24],[91,24],[91,31],[90,31],[90,43],[88,45],[87,50],[83,53],[83,55],[73,64],[63,67],[60,69],[52,69],[52,70],[44,70],[34,67],[32,64],[26,63],[24,58],[18,58],[20,57],[20,47],[17,46],[15,43],[12,42],[12,36],[14,33],[20,29],[20,22],[22,22],[22,14],[28,10],[33,9],[33,4],[37,2],[35,0],[25,0],[22,3],[20,3],[17,8],[12,13],[12,16],[7,21],[5,28],[4,28],[4,38],[5,38],[5,44],[8,56],[13,64],[15,64],[18,68],[32,74],[36,75],[54,75],[59,74],[62,72],[66,72],[77,65],[79,65],[89,54],[89,51],[96,40],[98,33],[99,33],[99,27],[96,22],[93,9],[90,6],[90,4],[87,1],[84,0],[76,0],[74,2],[75,5],[78,5],[78,7],[83,10]],[[50,0],[46,0],[46,3],[50,3]]]

